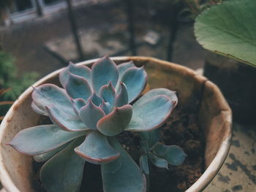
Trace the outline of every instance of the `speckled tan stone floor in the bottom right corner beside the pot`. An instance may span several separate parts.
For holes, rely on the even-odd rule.
[[[205,191],[256,191],[256,126],[233,124],[233,141],[227,159]]]

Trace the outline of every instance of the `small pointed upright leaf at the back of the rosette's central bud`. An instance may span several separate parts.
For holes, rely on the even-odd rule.
[[[110,107],[112,109],[115,104],[116,91],[113,88],[111,82],[109,82],[108,85],[104,85],[102,86],[102,88],[100,88],[99,95],[102,96],[105,102],[108,102],[110,104]]]

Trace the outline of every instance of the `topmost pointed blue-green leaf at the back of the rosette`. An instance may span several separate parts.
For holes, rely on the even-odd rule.
[[[99,59],[92,66],[91,72],[92,84],[96,93],[99,93],[99,89],[103,85],[108,85],[109,82],[112,83],[113,87],[116,87],[118,69],[116,64],[108,56]]]

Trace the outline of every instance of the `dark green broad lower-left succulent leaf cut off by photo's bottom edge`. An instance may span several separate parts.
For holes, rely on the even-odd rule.
[[[75,139],[42,166],[39,177],[48,192],[80,191],[85,161],[74,151],[80,142]]]

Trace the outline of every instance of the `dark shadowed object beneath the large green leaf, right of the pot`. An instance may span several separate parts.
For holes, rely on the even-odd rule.
[[[256,68],[215,53],[208,53],[204,75],[216,83],[238,123],[256,123]]]

